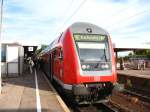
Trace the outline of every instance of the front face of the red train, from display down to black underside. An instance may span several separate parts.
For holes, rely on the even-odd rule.
[[[80,103],[105,100],[112,93],[113,83],[116,81],[109,35],[97,27],[91,30],[96,31],[73,34],[78,55],[78,84],[72,88],[75,99]]]

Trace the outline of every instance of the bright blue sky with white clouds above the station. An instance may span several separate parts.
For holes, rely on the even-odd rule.
[[[50,44],[74,22],[104,28],[119,47],[150,43],[149,0],[4,0],[2,42]]]

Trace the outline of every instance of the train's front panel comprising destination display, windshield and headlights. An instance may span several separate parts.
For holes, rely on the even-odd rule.
[[[107,36],[75,34],[81,68],[84,71],[101,71],[111,68]]]

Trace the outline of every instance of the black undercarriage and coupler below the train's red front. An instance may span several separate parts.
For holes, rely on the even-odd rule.
[[[78,104],[92,104],[107,102],[107,97],[112,94],[113,84],[105,83],[86,83],[73,85],[72,94]]]

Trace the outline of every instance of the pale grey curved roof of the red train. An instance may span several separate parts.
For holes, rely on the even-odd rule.
[[[41,55],[47,53],[55,47],[61,47],[62,41],[64,39],[64,35],[67,31],[70,31],[71,34],[101,34],[101,35],[109,35],[109,33],[101,27],[98,27],[91,23],[86,22],[76,22],[68,27],[64,32],[60,34],[46,49],[41,52]]]

